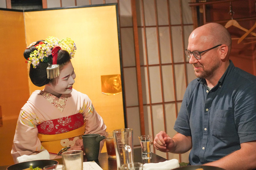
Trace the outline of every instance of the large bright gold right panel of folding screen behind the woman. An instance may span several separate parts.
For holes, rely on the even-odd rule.
[[[124,128],[122,94],[101,92],[101,75],[121,74],[116,5],[25,12],[25,30],[27,44],[48,36],[74,40],[74,89],[89,96],[107,130]],[[30,82],[30,89],[38,87]]]

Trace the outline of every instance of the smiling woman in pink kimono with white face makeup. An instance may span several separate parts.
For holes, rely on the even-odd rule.
[[[104,135],[106,126],[89,97],[72,88],[76,74],[70,59],[75,50],[69,38],[54,37],[33,42],[25,50],[32,83],[45,88],[34,91],[21,108],[11,151],[15,163],[17,157],[42,151],[48,151],[50,159],[58,158],[63,148],[83,150],[83,134]],[[103,144],[104,140],[100,151]]]

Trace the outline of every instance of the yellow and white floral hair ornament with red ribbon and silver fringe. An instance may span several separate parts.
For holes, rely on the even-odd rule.
[[[34,43],[34,42],[33,42]],[[31,43],[29,47],[34,45]],[[27,48],[29,48],[27,47]],[[48,56],[53,56],[53,63],[49,67],[47,67],[47,78],[52,79],[59,76],[59,65],[57,64],[58,51],[62,48],[68,51],[70,58],[73,58],[75,55],[76,44],[70,38],[62,39],[59,41],[55,37],[48,37],[45,41],[39,42],[35,45],[37,48],[33,52],[31,52],[28,61],[26,63],[31,63],[33,68],[39,64],[39,62],[48,62]],[[54,50],[55,49],[55,50]],[[56,62],[55,62],[56,61]],[[53,66],[58,65],[58,66]]]

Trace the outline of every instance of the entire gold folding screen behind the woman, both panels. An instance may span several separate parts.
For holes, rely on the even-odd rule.
[[[3,75],[1,73],[1,77],[4,77],[5,82],[10,80],[15,82],[11,85],[0,83],[1,92],[6,91],[6,94],[1,93],[0,105],[2,106],[3,127],[0,127],[0,130],[7,127],[9,123],[5,122],[4,119],[7,115],[13,115],[12,119],[13,122],[15,122],[15,128],[19,111],[27,101],[29,95],[34,90],[42,90],[44,88],[34,86],[29,80],[28,67],[25,63],[23,52],[26,45],[38,40],[45,40],[48,36],[57,37],[59,40],[66,37],[74,40],[77,50],[75,57],[71,60],[76,73],[73,88],[89,96],[95,110],[102,116],[107,130],[125,127],[123,93],[118,95],[105,95],[101,91],[102,75],[122,75],[119,51],[120,37],[118,36],[119,20],[116,4],[25,11],[24,13],[20,11],[10,12],[1,10],[0,12],[1,23],[8,24],[4,28],[1,28],[1,30],[5,30],[1,32],[2,41],[0,45],[4,47],[3,49],[6,49],[6,51],[2,51],[4,56],[1,57],[1,66],[3,65],[2,68],[4,68],[4,65],[6,65],[8,68],[6,71],[9,72],[9,74]],[[13,18],[10,18],[9,13],[13,14]],[[8,15],[8,17],[2,17],[5,15]],[[5,21],[7,18],[8,22]],[[19,22],[15,21],[17,18]],[[15,22],[10,22],[11,20]],[[8,34],[7,30],[11,30],[13,35]],[[16,43],[18,43],[18,45],[16,45]],[[9,59],[5,60],[4,58],[7,56]],[[19,82],[21,78],[22,82]],[[15,92],[20,90],[26,95],[18,96],[16,93],[10,93],[12,95],[11,102],[5,102],[4,96],[8,98],[8,92],[13,90]],[[17,100],[17,98],[19,100]],[[16,101],[18,101],[18,103]],[[17,108],[15,106],[15,114],[10,110],[10,105],[13,105],[13,103],[17,106]],[[15,132],[14,128],[11,128],[11,131],[9,131],[8,139],[6,139],[5,136],[5,139],[2,139],[0,143],[1,153],[3,153],[2,147],[8,146],[5,147],[7,150],[4,152],[7,153],[8,160],[12,159],[10,151]],[[0,136],[2,136],[2,134],[3,132],[1,131]],[[8,141],[8,144],[4,141]],[[102,152],[105,151],[106,149],[104,147]],[[1,157],[0,159],[3,160]],[[12,162],[8,164],[11,163]]]

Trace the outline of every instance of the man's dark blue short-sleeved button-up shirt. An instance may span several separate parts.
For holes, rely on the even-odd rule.
[[[230,64],[211,90],[189,83],[174,129],[192,136],[191,165],[218,160],[256,140],[256,76]]]

